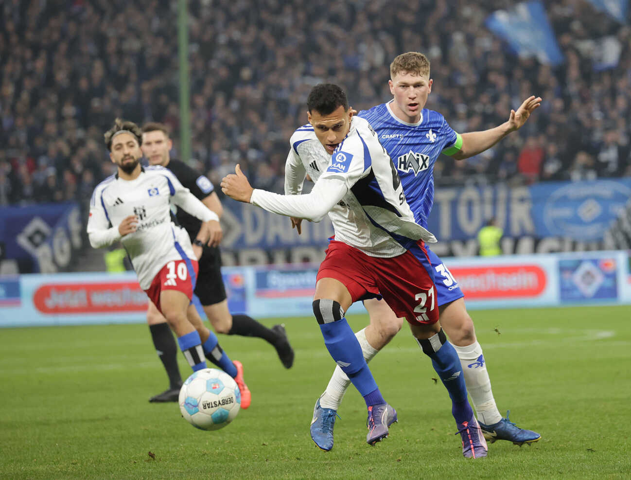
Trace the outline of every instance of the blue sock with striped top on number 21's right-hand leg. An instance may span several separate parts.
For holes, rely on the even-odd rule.
[[[433,368],[449,392],[451,413],[456,423],[468,422],[473,416],[473,410],[467,400],[463,367],[454,345],[447,342],[442,328],[430,339],[417,341],[423,352],[432,359]]]

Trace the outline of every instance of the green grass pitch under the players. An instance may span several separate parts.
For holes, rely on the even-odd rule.
[[[370,364],[399,423],[367,445],[351,388],[328,453],[309,436],[333,370],[313,318],[283,320],[290,370],[262,340],[220,336],[244,363],[252,405],[215,432],[177,404],[148,403],[167,379],[146,325],[0,330],[0,478],[629,478],[630,311],[472,311],[500,411],[542,436],[498,441],[480,460],[463,458],[447,392],[406,325]],[[367,317],[349,321],[358,330]],[[189,375],[181,355],[180,370]]]

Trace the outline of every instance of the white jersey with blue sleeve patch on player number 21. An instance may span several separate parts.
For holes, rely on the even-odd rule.
[[[329,211],[335,239],[370,256],[401,255],[411,241],[435,242],[416,224],[398,173],[370,124],[353,117],[346,138],[329,155],[307,124],[290,139],[285,166],[285,193],[298,195],[305,176],[314,181],[338,180],[346,194]]]

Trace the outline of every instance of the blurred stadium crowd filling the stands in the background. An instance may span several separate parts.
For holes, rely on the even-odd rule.
[[[194,162],[215,184],[240,162],[254,186],[281,191],[310,88],[333,81],[355,109],[371,107],[391,98],[390,61],[416,50],[432,61],[428,107],[456,131],[496,126],[531,94],[544,99],[495,148],[443,157],[439,185],[630,176],[629,28],[583,0],[546,1],[565,56],[550,68],[483,26],[510,4],[191,0]],[[177,2],[5,0],[0,15],[0,205],[89,198],[114,171],[102,141],[114,117],[166,123],[177,145]],[[594,39],[607,36],[620,61],[599,69]]]

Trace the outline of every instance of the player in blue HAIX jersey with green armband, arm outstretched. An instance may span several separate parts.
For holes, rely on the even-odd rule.
[[[416,222],[427,227],[433,203],[433,165],[440,153],[463,160],[484,152],[526,123],[530,114],[541,104],[539,97],[524,100],[517,111],[511,110],[509,120],[485,131],[456,133],[444,117],[425,109],[432,91],[430,63],[425,55],[407,52],[399,55],[390,66],[390,92],[393,99],[358,116],[369,121],[377,131],[379,141],[396,165],[403,184],[406,200]],[[480,426],[491,442],[509,440],[516,445],[532,443],[541,436],[531,430],[518,428],[497,409],[488,377],[482,349],[475,336],[473,321],[464,305],[464,294],[442,260],[427,246],[427,253],[435,270],[435,285],[440,309],[440,323],[456,348],[460,358],[466,387],[478,414]],[[370,325],[356,336],[362,345],[366,361],[382,349],[403,324],[403,319],[388,308],[384,301],[364,302]],[[339,368],[319,399],[320,411],[311,425],[311,437],[319,446],[333,447],[333,425],[342,397],[350,382]]]

